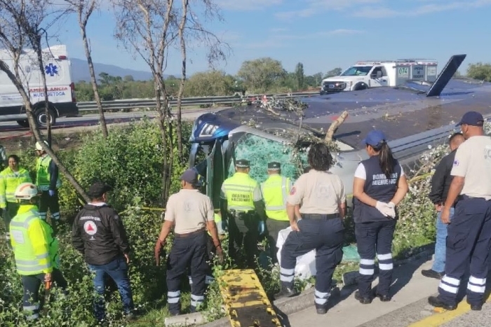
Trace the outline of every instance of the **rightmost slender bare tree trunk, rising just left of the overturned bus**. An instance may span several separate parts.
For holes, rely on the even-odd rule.
[[[177,93],[177,153],[179,155],[180,162],[183,162],[184,152],[182,150],[182,95],[184,94],[184,82],[186,81],[186,41],[184,40],[184,27],[187,20],[187,6],[189,0],[182,0],[182,18],[179,24],[179,39],[181,43],[181,55],[182,55],[182,71],[181,71],[181,83],[179,85],[179,92]]]

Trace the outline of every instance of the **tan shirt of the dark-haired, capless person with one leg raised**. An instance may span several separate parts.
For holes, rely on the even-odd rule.
[[[346,195],[339,176],[311,169],[295,181],[287,201],[293,205],[302,203],[301,214],[337,214]]]

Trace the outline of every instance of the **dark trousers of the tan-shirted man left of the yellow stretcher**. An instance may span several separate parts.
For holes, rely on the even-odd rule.
[[[172,249],[167,259],[167,302],[170,314],[179,314],[181,277],[187,267],[191,268],[191,312],[203,303],[205,293],[205,279],[209,266],[206,261],[208,256],[207,237],[205,231],[179,237],[175,235]]]

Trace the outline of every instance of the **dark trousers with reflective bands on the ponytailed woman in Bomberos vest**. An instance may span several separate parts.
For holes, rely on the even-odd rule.
[[[360,254],[360,277],[358,291],[364,298],[372,296],[372,281],[375,279],[375,254],[379,261],[379,284],[377,294],[389,295],[394,263],[392,239],[396,220],[356,223],[355,235]]]

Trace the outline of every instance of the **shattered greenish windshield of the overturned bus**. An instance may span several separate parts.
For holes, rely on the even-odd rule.
[[[302,151],[294,156],[294,148],[289,144],[266,139],[255,134],[245,133],[235,142],[236,160],[245,159],[250,161],[250,176],[257,182],[266,181],[268,162],[276,161],[281,164],[281,175],[298,179],[299,161],[302,167],[307,167],[307,153]],[[229,165],[229,176],[234,174],[234,163]]]

